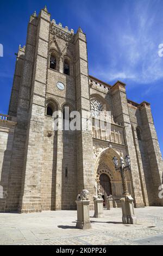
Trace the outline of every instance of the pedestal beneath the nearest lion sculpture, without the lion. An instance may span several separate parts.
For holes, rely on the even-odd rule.
[[[90,210],[89,210],[89,200],[77,200],[77,224],[76,227],[80,229],[91,228],[90,222]]]

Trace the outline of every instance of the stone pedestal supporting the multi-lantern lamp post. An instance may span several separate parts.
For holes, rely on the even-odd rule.
[[[130,195],[123,196],[120,201],[122,204],[122,222],[123,224],[136,224],[137,220],[134,214],[133,198]]]

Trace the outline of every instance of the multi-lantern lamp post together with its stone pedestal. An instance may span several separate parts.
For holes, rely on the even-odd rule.
[[[115,169],[120,172],[122,178],[122,187],[123,187],[123,197],[120,199],[122,203],[122,222],[124,224],[135,224],[136,217],[134,214],[134,199],[128,192],[127,180],[126,180],[126,171],[130,170],[130,157],[126,156],[124,159],[120,157],[120,165],[118,165],[117,157],[112,159]]]

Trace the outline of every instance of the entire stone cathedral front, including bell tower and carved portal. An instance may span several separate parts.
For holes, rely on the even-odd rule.
[[[55,131],[53,113],[80,113],[80,130]],[[111,112],[110,133],[85,129],[86,114]],[[59,117],[60,118],[60,117]],[[89,190],[91,208],[99,175],[104,202],[122,197],[114,156],[130,156],[128,191],[135,207],[163,206],[163,162],[150,104],[127,98],[126,84],[110,85],[88,73],[86,35],[62,27],[45,7],[30,16],[26,46],[19,47],[8,115],[0,120],[0,211],[76,209]]]

